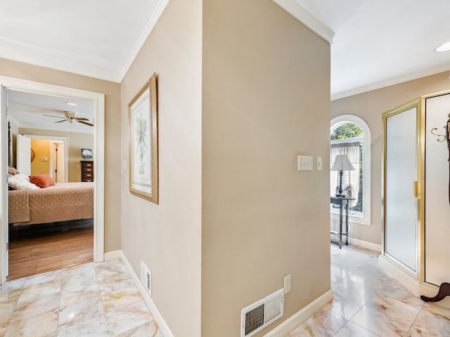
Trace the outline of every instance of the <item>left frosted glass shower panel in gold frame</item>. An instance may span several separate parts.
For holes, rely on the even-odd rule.
[[[385,252],[417,273],[417,107],[393,114],[385,129]]]

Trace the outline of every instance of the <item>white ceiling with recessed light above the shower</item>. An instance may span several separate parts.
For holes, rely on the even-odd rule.
[[[450,70],[434,51],[450,41],[449,0],[295,1],[335,32],[332,98]]]

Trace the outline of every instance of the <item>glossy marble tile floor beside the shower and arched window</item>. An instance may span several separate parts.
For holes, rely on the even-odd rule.
[[[450,309],[413,296],[378,267],[378,256],[332,244],[334,298],[287,337],[450,336]]]

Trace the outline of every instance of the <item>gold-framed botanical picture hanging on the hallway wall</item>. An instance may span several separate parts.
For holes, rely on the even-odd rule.
[[[129,191],[158,204],[158,103],[156,74],[128,105]]]

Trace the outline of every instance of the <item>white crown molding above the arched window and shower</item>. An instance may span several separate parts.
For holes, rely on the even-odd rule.
[[[394,86],[395,84],[400,84],[400,83],[404,83],[407,81],[412,81],[414,79],[420,79],[422,77],[439,74],[440,72],[448,72],[449,70],[450,70],[450,63],[446,63],[445,65],[439,65],[437,67],[420,70],[419,72],[413,72],[411,74],[394,77],[392,79],[387,79],[385,81],[368,84],[367,86],[360,86],[359,88],[342,91],[340,93],[333,93],[331,95],[331,100],[339,100],[340,98],[346,98],[346,97],[353,96],[353,95],[359,95],[360,93],[367,93],[368,91],[385,88],[386,86]]]

